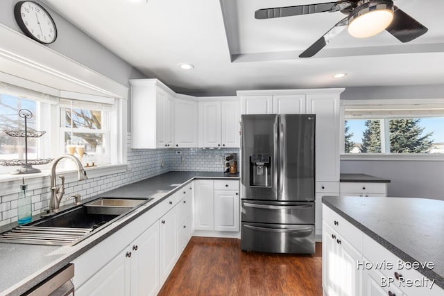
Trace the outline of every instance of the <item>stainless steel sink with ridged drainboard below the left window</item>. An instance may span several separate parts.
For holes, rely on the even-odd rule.
[[[148,199],[99,198],[0,234],[3,243],[75,245],[99,232]]]

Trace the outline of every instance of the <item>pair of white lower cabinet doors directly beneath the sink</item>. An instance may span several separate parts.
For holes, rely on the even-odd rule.
[[[76,289],[76,295],[156,295],[159,277],[159,224],[155,222],[133,243]]]

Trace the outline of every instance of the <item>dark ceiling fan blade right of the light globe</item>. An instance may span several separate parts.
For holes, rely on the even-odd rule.
[[[429,29],[395,6],[395,17],[386,31],[405,43],[424,35]]]

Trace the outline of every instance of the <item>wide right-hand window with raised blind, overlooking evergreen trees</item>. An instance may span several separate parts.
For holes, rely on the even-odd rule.
[[[444,154],[443,103],[353,103],[357,101],[343,102],[346,154]]]

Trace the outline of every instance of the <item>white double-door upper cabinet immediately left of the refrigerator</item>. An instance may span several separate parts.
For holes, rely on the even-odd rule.
[[[199,147],[239,148],[239,101],[199,102]]]

